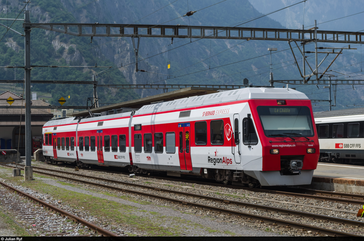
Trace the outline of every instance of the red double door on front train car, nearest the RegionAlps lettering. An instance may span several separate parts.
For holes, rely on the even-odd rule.
[[[190,152],[190,123],[178,124],[178,156],[181,170],[192,171]]]

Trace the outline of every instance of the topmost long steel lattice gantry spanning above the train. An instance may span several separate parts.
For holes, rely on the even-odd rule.
[[[155,24],[99,24],[99,23],[24,23],[23,27],[41,28],[88,37],[167,37],[304,41],[314,39],[312,29],[246,28],[218,26],[186,26]],[[211,33],[210,33],[211,32]],[[363,44],[364,32],[317,30],[317,42]]]

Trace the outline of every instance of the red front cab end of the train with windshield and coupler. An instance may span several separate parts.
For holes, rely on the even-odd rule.
[[[310,184],[320,150],[310,100],[249,100],[249,106],[262,166],[243,166],[244,173],[262,186]]]

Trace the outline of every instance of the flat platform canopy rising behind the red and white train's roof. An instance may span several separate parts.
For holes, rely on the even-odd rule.
[[[205,87],[182,88],[179,90],[174,90],[174,91],[166,92],[163,94],[147,96],[147,97],[141,98],[141,99],[128,100],[128,101],[121,102],[121,103],[110,104],[107,106],[100,106],[98,108],[91,109],[91,112],[95,114],[95,113],[100,113],[103,111],[109,111],[109,110],[119,109],[119,108],[141,108],[147,104],[151,104],[154,102],[170,101],[170,100],[182,99],[182,98],[198,96],[198,95],[207,95],[207,94],[216,93],[219,90],[220,89],[217,89],[217,88],[205,88]],[[87,110],[67,114],[67,116],[88,116],[88,115],[89,115],[89,113]]]

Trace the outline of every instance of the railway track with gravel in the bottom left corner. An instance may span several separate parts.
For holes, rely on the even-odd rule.
[[[0,182],[0,202],[3,210],[11,213],[14,221],[36,235],[40,236],[118,236],[100,226],[80,218],[66,210],[60,209],[4,182]],[[25,197],[28,200],[24,200]],[[33,201],[33,202],[31,202]],[[38,205],[34,205],[34,202]],[[47,210],[48,209],[48,210]],[[74,221],[74,224],[69,222]],[[19,224],[21,223],[21,224]],[[95,231],[92,234],[79,235],[87,226]],[[90,233],[87,229],[86,232]],[[98,234],[97,234],[98,233]],[[31,234],[32,235],[32,234]]]

